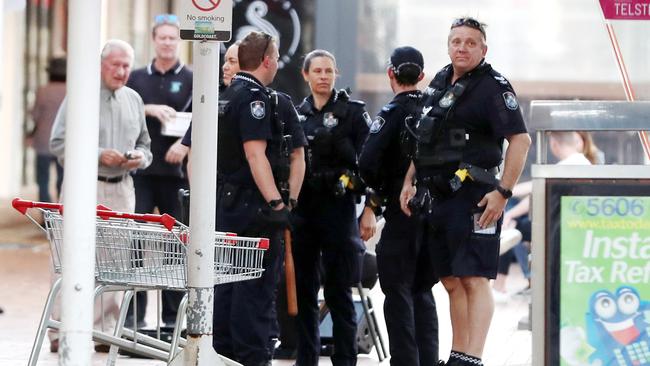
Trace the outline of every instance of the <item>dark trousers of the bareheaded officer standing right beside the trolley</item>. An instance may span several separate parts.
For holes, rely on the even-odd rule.
[[[257,211],[266,205],[253,189],[230,192],[237,198],[224,199],[225,188],[217,191],[217,230],[243,236],[270,239],[264,253],[264,273],[258,279],[215,286],[213,346],[217,353],[244,366],[266,365],[271,360],[269,337],[275,322],[274,300],[282,265],[281,230],[262,229]]]

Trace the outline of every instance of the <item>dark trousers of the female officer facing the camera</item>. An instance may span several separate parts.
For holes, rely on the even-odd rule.
[[[328,197],[329,198],[329,197]],[[298,295],[297,366],[316,366],[320,356],[318,290],[322,284],[333,323],[334,366],[357,362],[357,315],[351,286],[361,279],[364,248],[353,197],[316,200],[303,209],[294,230],[293,257]],[[322,264],[322,271],[319,271]]]

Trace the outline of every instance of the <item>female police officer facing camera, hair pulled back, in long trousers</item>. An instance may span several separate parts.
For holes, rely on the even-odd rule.
[[[364,252],[355,212],[355,195],[361,190],[357,157],[371,120],[363,102],[334,89],[336,73],[331,53],[315,50],[305,56],[302,74],[311,95],[300,104],[298,113],[309,142],[308,168],[294,211],[293,245],[298,366],[318,364],[317,294],[321,283],[334,322],[332,363],[354,365],[357,358],[357,318],[350,289],[359,282]],[[364,212],[364,240],[374,233],[374,220],[372,211]]]

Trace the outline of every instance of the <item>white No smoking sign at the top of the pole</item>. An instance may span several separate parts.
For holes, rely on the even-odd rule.
[[[232,37],[232,0],[182,0],[181,39],[228,42]]]

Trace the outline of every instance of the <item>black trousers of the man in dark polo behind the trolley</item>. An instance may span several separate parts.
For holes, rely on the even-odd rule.
[[[181,208],[178,200],[178,190],[188,187],[187,180],[173,176],[134,175],[135,212],[152,213],[154,208],[163,214],[169,214],[180,220]],[[184,293],[182,291],[162,291],[162,321],[172,325],[176,321],[176,313]],[[144,321],[147,309],[147,293],[138,292],[137,310],[138,322]],[[133,306],[129,307],[127,317],[133,316]],[[129,324],[127,323],[127,326]]]

